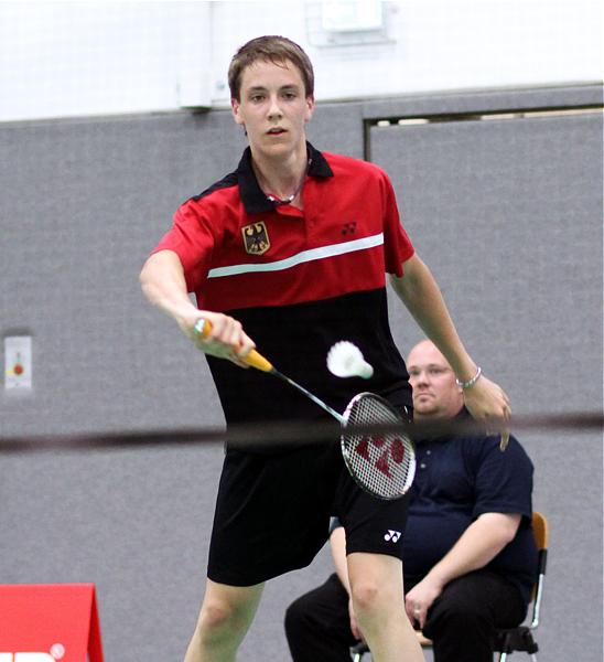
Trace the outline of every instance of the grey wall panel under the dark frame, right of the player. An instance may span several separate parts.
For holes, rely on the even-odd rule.
[[[514,410],[601,410],[602,115],[376,127],[371,147],[464,342]],[[420,331],[391,303],[409,348]],[[551,524],[541,650],[598,662],[602,435],[520,439]]]

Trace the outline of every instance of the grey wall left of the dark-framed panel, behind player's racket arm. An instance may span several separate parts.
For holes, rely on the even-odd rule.
[[[322,148],[363,154],[358,105],[314,121]],[[223,424],[205,361],[143,300],[138,273],[176,206],[245,145],[229,113],[0,126],[0,334],[34,342],[34,389],[0,389],[0,436]],[[108,660],[181,659],[220,463],[219,444],[1,456],[0,581],[94,581]],[[284,609],[327,572],[322,553],[271,583],[250,659],[284,659]]]

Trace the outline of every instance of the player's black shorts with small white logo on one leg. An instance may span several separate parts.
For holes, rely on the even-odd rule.
[[[363,491],[339,442],[276,455],[227,450],[214,516],[207,576],[252,586],[308,566],[328,537],[330,517],[346,551],[402,558],[408,496],[384,501]]]

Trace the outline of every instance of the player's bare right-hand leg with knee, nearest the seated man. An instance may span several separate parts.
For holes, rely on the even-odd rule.
[[[423,662],[405,612],[400,560],[384,554],[355,553],[347,562],[355,615],[375,662]]]

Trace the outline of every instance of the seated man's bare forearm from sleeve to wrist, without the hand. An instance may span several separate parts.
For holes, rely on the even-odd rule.
[[[484,568],[514,538],[520,515],[486,513],[474,521],[453,547],[428,573],[439,587],[473,570]]]

